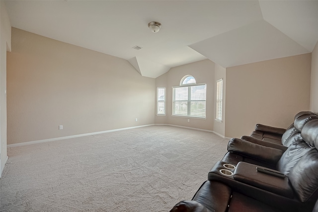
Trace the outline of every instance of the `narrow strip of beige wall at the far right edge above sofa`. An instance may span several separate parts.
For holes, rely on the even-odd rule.
[[[318,42],[312,52],[312,77],[311,77],[311,103],[310,110],[318,113]]]

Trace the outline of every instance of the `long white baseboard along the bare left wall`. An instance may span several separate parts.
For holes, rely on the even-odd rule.
[[[74,135],[74,136],[65,136],[65,137],[59,137],[59,138],[53,138],[53,139],[44,139],[44,140],[38,140],[38,141],[27,141],[27,142],[21,142],[21,143],[13,143],[13,144],[8,144],[7,147],[9,148],[9,147],[15,147],[15,146],[30,145],[30,144],[35,144],[35,143],[58,141],[58,140],[63,140],[63,139],[73,139],[73,138],[78,138],[78,137],[92,136],[92,135],[97,135],[97,134],[110,133],[110,132],[116,132],[116,131],[122,131],[122,130],[130,130],[130,129],[135,129],[135,128],[148,127],[148,126],[153,126],[153,124],[152,125],[142,125],[142,126],[136,126],[136,127],[129,127],[129,128],[120,128],[120,129],[115,129],[115,130],[106,130],[106,131],[100,131],[100,132],[94,132],[94,133],[85,133],[85,134],[79,134],[79,135]]]

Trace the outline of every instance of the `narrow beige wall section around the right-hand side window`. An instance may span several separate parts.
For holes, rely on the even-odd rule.
[[[218,64],[215,64],[215,89],[216,89],[216,84],[217,80],[223,79],[223,102],[222,102],[222,122],[215,120],[216,118],[216,108],[214,110],[214,128],[213,131],[218,134],[219,136],[224,137],[225,136],[225,116],[226,116],[226,111],[225,111],[225,99],[226,99],[226,69],[221,67]],[[216,106],[216,98],[214,98],[214,105]]]

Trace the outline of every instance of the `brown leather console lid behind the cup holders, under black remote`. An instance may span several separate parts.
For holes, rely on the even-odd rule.
[[[277,177],[259,172],[256,170],[256,167],[257,166],[254,164],[239,162],[234,171],[233,178],[239,182],[272,192],[274,194],[287,198],[294,197],[294,192],[289,184],[288,177]],[[276,172],[275,170],[272,171]]]

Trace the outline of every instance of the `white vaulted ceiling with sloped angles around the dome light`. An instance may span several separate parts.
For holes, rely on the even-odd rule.
[[[128,60],[143,76],[313,51],[318,0],[6,0],[11,25]],[[158,33],[148,23],[159,21]],[[143,47],[140,50],[134,46]]]

